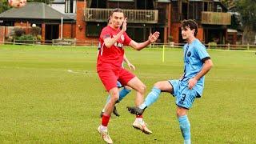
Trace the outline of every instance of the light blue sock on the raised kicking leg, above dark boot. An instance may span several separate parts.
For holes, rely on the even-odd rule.
[[[161,90],[154,86],[153,89],[150,91],[150,94],[147,94],[145,101],[138,107],[140,109],[145,109],[146,107],[152,105],[158,100],[160,93]]]

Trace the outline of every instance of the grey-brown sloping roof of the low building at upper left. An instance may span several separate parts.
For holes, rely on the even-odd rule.
[[[15,19],[43,19],[43,20],[74,20],[66,14],[54,10],[52,7],[47,6],[45,3],[41,2],[27,2],[26,6],[21,8],[12,8],[6,10],[0,14],[1,18],[15,18]]]

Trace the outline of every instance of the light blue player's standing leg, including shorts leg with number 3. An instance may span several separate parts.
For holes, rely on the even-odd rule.
[[[190,121],[187,117],[187,111],[192,106],[194,98],[196,98],[197,94],[198,93],[195,90],[189,90],[186,87],[181,90],[181,93],[176,98],[176,105],[178,106],[176,113],[182,136],[184,138],[184,144],[191,143]]]

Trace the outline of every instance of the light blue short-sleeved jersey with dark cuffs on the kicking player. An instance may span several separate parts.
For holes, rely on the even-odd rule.
[[[206,59],[210,59],[209,54],[206,51],[206,46],[195,39],[190,44],[186,44],[184,47],[184,78],[182,84],[188,86],[190,78],[194,78],[199,71],[202,70],[203,63]],[[193,87],[198,92],[200,97],[202,96],[202,90],[204,87],[205,76],[200,78],[197,84]]]

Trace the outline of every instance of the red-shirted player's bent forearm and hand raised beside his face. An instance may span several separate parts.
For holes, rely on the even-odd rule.
[[[127,18],[125,18],[125,20],[122,23],[122,30],[114,38],[108,37],[104,39],[104,43],[107,48],[110,48],[111,46],[113,46],[114,43],[117,42],[118,39],[121,37],[121,35],[126,32],[126,26],[127,26]]]

